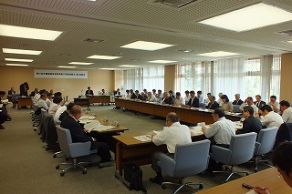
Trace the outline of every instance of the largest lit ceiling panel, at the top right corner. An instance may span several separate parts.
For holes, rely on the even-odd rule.
[[[224,15],[214,16],[199,23],[241,32],[290,20],[292,20],[292,13],[273,5],[259,3]]]

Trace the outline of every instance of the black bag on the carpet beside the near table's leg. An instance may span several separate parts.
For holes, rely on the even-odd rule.
[[[129,189],[142,190],[147,193],[142,184],[142,170],[139,166],[127,163],[124,168],[124,178],[130,183]]]

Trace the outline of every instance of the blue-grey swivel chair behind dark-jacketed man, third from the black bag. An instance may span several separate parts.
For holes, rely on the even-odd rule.
[[[258,137],[255,142],[255,172],[257,172],[257,165],[259,162],[265,162],[267,165],[267,160],[264,159],[264,155],[274,148],[276,141],[276,132],[277,128],[263,128],[259,131]],[[261,156],[262,159],[258,160],[258,157]],[[268,165],[270,166],[270,165]],[[272,167],[272,166],[270,166]]]

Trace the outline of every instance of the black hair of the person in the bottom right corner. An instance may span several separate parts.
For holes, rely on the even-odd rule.
[[[286,141],[274,149],[272,162],[287,174],[292,170],[292,142]]]

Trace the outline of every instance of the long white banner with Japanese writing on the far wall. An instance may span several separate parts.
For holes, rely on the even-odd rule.
[[[35,69],[35,78],[73,78],[87,79],[87,71],[46,70]]]

